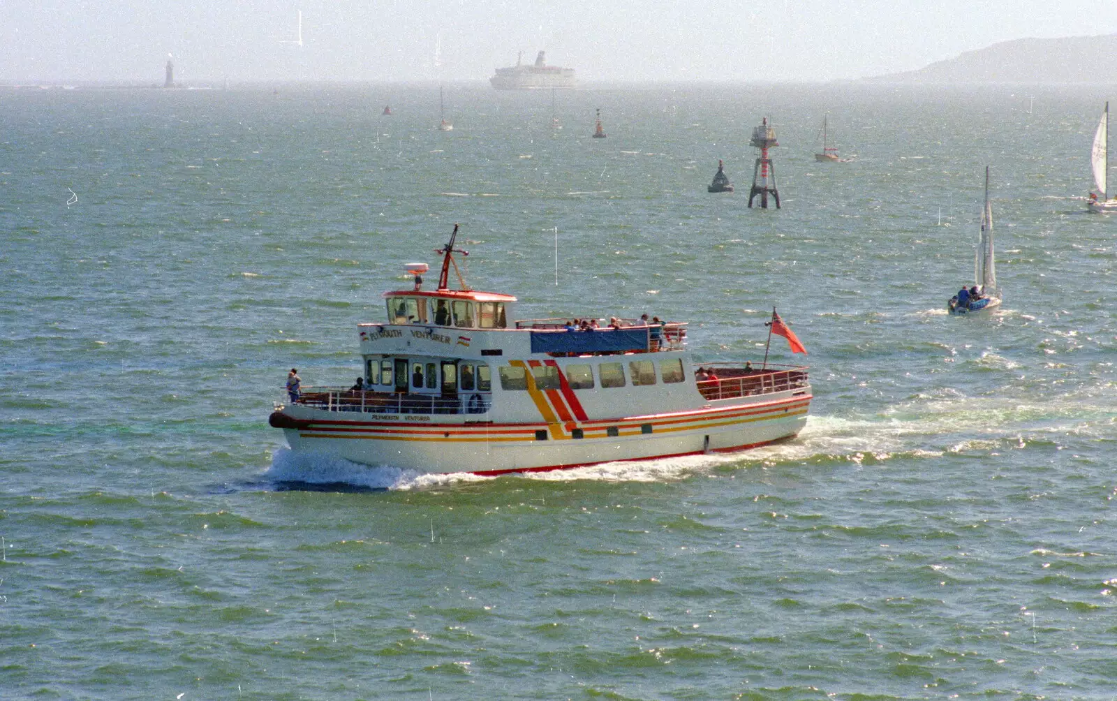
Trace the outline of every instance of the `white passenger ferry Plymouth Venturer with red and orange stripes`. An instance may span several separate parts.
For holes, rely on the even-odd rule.
[[[364,388],[304,387],[277,403],[269,423],[293,450],[502,474],[738,451],[806,423],[806,367],[705,363],[697,373],[679,321],[579,330],[515,320],[515,297],[466,285],[457,233],[438,251],[438,289],[422,288],[424,263],[409,263],[414,286],[384,294],[388,320],[357,326]]]

